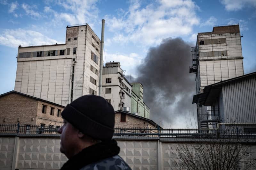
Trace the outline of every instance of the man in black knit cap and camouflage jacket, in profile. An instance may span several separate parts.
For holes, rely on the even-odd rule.
[[[82,96],[61,113],[60,152],[69,159],[61,170],[131,170],[117,154],[120,148],[111,139],[115,112],[104,98]]]

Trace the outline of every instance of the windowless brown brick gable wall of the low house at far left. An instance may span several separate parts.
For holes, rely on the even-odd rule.
[[[0,97],[0,123],[36,124],[37,101],[26,96],[11,93]],[[34,118],[34,121],[31,121]],[[5,122],[4,122],[5,119]]]

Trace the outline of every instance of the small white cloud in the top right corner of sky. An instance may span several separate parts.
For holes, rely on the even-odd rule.
[[[225,5],[227,11],[238,11],[245,6],[252,6],[256,8],[255,0],[221,0],[221,4]]]

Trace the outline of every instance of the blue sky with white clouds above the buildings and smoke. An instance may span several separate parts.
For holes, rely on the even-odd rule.
[[[100,37],[104,62],[120,61],[136,77],[150,47],[165,38],[196,43],[214,25],[240,24],[244,72],[256,71],[256,0],[0,0],[0,94],[14,89],[18,45],[65,42],[66,26],[88,23]],[[188,56],[190,57],[190,56]]]

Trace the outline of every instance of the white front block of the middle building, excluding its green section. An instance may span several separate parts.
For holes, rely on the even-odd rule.
[[[105,64],[102,71],[102,97],[104,97],[114,110],[130,112],[132,85],[124,77],[119,62]]]

